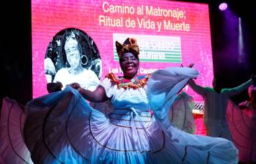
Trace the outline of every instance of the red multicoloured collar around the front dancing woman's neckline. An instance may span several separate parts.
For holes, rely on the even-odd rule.
[[[123,88],[123,89],[139,89],[146,85],[148,78],[150,78],[149,75],[139,75],[132,79],[126,79],[123,77],[115,77],[114,73],[109,73],[106,75],[106,78],[109,78],[112,83],[117,85],[117,88]]]

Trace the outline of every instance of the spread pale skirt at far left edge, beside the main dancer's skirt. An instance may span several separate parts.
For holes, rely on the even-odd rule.
[[[30,163],[30,152],[23,141],[26,113],[15,100],[4,97],[0,119],[0,163]]]

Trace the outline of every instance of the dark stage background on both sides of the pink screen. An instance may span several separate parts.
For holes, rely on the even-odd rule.
[[[220,1],[208,3],[211,20],[214,75],[219,86],[233,87],[247,81],[256,72],[255,20],[253,1],[230,0],[230,10],[241,18],[243,54],[239,53],[238,26],[219,11]],[[4,1],[1,4],[1,100],[10,97],[25,105],[32,99],[32,23],[30,1]],[[227,15],[226,15],[227,16]],[[234,20],[236,21],[236,20]],[[247,92],[233,97],[235,103],[246,100]]]

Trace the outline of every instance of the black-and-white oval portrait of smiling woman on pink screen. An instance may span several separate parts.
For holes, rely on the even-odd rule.
[[[95,42],[81,29],[59,31],[49,42],[44,59],[47,83],[79,83],[95,90],[102,74],[100,53]]]

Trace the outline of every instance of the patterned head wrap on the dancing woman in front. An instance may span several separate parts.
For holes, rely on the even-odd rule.
[[[119,58],[123,53],[133,53],[134,56],[139,58],[139,46],[134,38],[127,38],[123,44],[116,41],[116,48]]]

